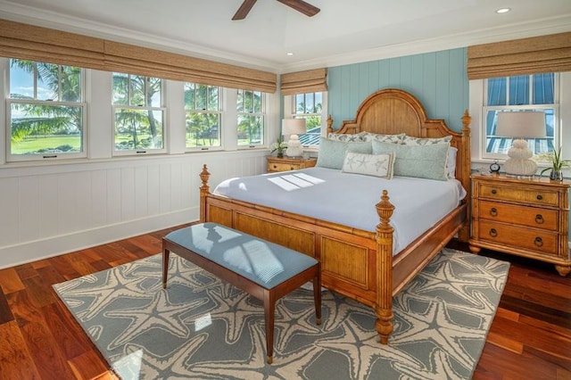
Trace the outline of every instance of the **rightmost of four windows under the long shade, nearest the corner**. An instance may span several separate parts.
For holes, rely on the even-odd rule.
[[[264,116],[266,96],[260,91],[238,90],[238,147],[255,147],[264,142]]]

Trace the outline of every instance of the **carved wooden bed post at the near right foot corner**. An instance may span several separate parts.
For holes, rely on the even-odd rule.
[[[389,343],[393,333],[393,230],[391,217],[394,206],[389,202],[388,192],[383,190],[378,202],[377,214],[380,222],[377,224],[377,321],[375,327],[382,344]]]

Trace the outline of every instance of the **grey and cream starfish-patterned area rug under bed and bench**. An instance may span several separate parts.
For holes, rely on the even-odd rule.
[[[393,300],[394,332],[378,342],[372,308],[323,292],[276,304],[266,364],[262,303],[202,268],[161,254],[54,285],[122,379],[470,378],[500,302],[509,263],[443,249]]]

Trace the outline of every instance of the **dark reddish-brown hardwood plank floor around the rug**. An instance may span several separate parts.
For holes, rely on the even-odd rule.
[[[161,237],[176,228],[0,269],[0,379],[115,379],[52,285],[161,252]],[[512,266],[474,378],[571,379],[571,277],[481,254]]]

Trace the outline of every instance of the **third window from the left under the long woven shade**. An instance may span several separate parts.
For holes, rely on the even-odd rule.
[[[219,87],[185,83],[186,148],[221,147]]]

